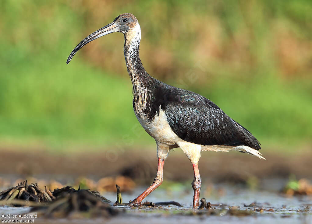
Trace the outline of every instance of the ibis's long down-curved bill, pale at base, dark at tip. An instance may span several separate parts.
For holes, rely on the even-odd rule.
[[[101,37],[101,36],[105,36],[107,34],[113,33],[113,32],[118,32],[119,26],[117,26],[115,24],[115,21],[108,24],[107,26],[102,27],[101,29],[95,31],[94,33],[90,34],[89,36],[87,36],[83,41],[81,41],[75,48],[74,50],[71,52],[71,54],[69,55],[66,64],[68,64],[71,59],[74,57],[74,55],[77,53],[78,50],[80,50],[84,45],[86,45],[87,43]]]

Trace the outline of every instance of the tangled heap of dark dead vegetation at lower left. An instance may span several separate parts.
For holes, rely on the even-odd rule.
[[[117,214],[111,201],[90,189],[78,190],[71,186],[54,189],[41,189],[38,183],[28,185],[27,180],[0,193],[2,204],[13,206],[32,206],[31,212],[45,217],[67,217],[70,214],[108,217]],[[85,212],[85,213],[80,213]]]

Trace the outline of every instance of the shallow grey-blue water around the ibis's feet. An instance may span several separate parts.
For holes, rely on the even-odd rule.
[[[149,202],[177,201],[183,207],[161,206],[133,208],[128,206],[119,206],[117,209],[125,210],[116,217],[105,220],[107,223],[191,223],[191,222],[210,222],[210,223],[312,223],[312,198],[309,196],[285,197],[276,191],[268,190],[249,190],[233,185],[214,185],[214,189],[222,186],[218,193],[213,190],[208,194],[202,189],[201,197],[205,197],[207,202],[211,202],[212,207],[216,210],[228,210],[232,206],[238,207],[239,210],[251,210],[263,208],[263,212],[254,212],[252,215],[237,217],[220,213],[218,215],[209,215],[205,210],[193,210],[191,208],[193,191],[185,188],[158,188],[151,193],[146,200]],[[132,193],[122,193],[123,202],[137,197],[145,188],[137,188]],[[205,195],[207,194],[207,195]],[[106,198],[115,202],[116,193],[103,193]],[[255,202],[254,207],[244,207]],[[274,211],[266,211],[273,209]],[[0,206],[0,214],[19,214],[28,212],[27,207],[10,207]],[[218,212],[219,213],[219,212]],[[96,219],[58,219],[59,223],[102,223],[102,218]],[[56,220],[44,220],[37,218],[34,223],[56,223]]]

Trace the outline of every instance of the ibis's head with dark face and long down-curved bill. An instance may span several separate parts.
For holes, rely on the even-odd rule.
[[[113,22],[102,27],[101,29],[91,33],[84,40],[82,40],[71,52],[66,63],[68,64],[73,56],[87,43],[110,33],[121,32],[125,35],[125,40],[133,39],[134,36],[138,36],[141,39],[141,28],[138,20],[131,13],[124,13],[115,18]]]

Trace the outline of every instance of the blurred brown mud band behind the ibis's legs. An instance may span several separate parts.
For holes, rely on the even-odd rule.
[[[274,150],[261,151],[266,160],[239,152],[202,152],[199,171],[202,180],[240,182],[246,177],[312,178],[312,151],[281,155]],[[6,176],[46,176],[101,178],[118,174],[128,175],[139,182],[150,183],[157,170],[156,150],[103,150],[85,149],[79,152],[53,153],[38,149],[0,149],[0,174]],[[164,165],[164,179],[185,181],[193,179],[192,164],[182,150],[171,150]],[[146,181],[146,182],[145,182]]]

